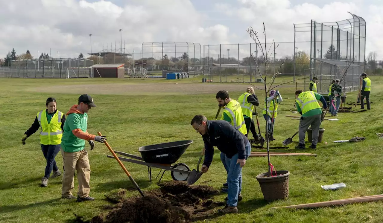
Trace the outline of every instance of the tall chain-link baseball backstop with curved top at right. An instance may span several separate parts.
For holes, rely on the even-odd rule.
[[[332,79],[341,79],[344,92],[358,90],[360,74],[366,67],[366,21],[350,13],[349,19],[318,23],[294,24],[294,73],[296,53],[302,40],[310,38],[310,78],[318,77],[318,91],[328,92]]]

